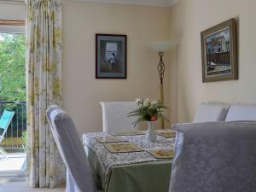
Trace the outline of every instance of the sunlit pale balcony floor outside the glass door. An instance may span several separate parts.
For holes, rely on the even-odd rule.
[[[8,159],[0,155],[0,175],[3,172],[24,172],[26,170],[26,154],[8,154]]]

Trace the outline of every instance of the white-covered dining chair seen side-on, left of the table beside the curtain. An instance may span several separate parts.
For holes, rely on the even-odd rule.
[[[61,158],[67,167],[66,192],[96,192],[89,162],[73,119],[58,106],[50,106],[46,115]]]

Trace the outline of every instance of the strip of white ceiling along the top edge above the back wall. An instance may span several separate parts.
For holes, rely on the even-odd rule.
[[[179,0],[75,0],[80,2],[92,3],[123,3],[123,4],[141,4],[150,6],[172,7]]]

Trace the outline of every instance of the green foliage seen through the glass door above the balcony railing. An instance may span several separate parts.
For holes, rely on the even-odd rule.
[[[26,101],[25,34],[0,33],[0,101]]]

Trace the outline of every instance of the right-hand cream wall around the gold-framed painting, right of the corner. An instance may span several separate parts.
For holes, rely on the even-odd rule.
[[[171,9],[171,39],[179,44],[172,61],[178,122],[191,121],[201,102],[256,103],[255,7],[254,0],[181,0]],[[230,18],[238,24],[239,80],[202,83],[200,33]]]

